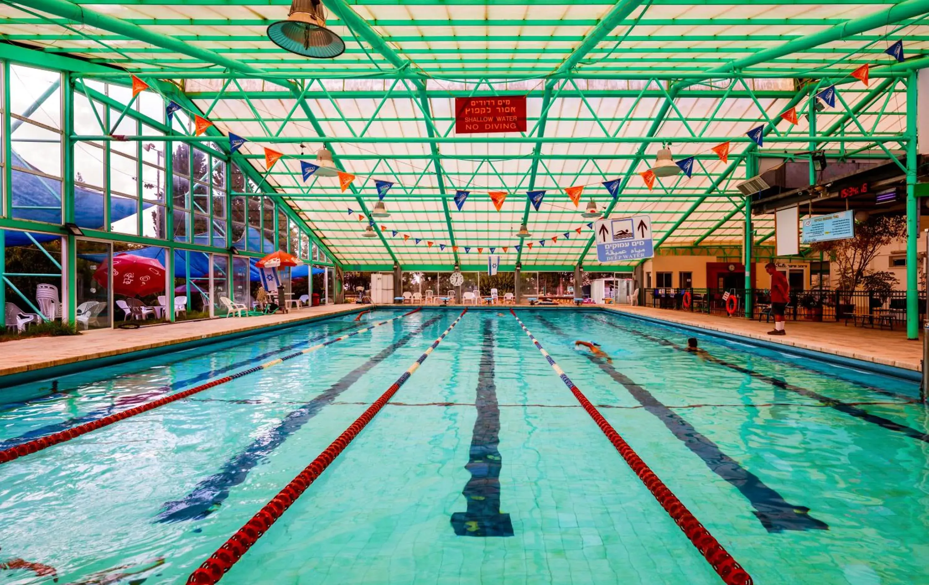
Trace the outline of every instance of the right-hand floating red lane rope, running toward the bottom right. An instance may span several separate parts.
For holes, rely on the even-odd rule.
[[[713,570],[723,579],[723,582],[725,582],[726,585],[751,585],[752,577],[749,576],[748,572],[742,568],[732,555],[726,551],[723,545],[710,534],[710,531],[701,525],[700,521],[687,510],[687,506],[685,506],[681,500],[677,499],[674,492],[664,485],[664,482],[661,481],[658,475],[648,468],[648,464],[642,461],[642,458],[640,458],[638,454],[635,453],[635,450],[626,443],[625,439],[616,432],[616,429],[613,428],[607,419],[603,418],[603,415],[591,404],[587,396],[583,395],[580,388],[571,382],[564,370],[558,367],[555,359],[548,355],[548,352],[545,351],[545,348],[539,343],[539,340],[526,329],[526,325],[523,324],[522,319],[517,317],[513,309],[510,309],[510,314],[513,315],[513,318],[517,319],[519,327],[529,335],[532,344],[542,353],[545,360],[548,361],[552,369],[555,370],[555,373],[558,374],[558,377],[561,378],[561,381],[568,386],[571,394],[578,399],[578,402],[581,403],[581,406],[587,411],[590,418],[594,419],[596,425],[603,431],[603,434],[607,435],[609,442],[612,443],[613,447],[622,455],[622,459],[632,468],[633,472],[642,480],[642,483],[648,487],[648,491],[651,492],[651,495],[655,497],[655,500],[658,500],[665,512],[674,519],[674,523],[687,535],[687,539],[700,551],[703,558],[713,566]]]

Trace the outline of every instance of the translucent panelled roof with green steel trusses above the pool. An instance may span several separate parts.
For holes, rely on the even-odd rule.
[[[68,71],[79,90],[136,74],[216,124],[173,141],[213,143],[228,156],[222,136],[246,137],[231,158],[259,194],[286,203],[335,263],[371,270],[480,269],[491,248],[504,269],[596,269],[582,217],[591,198],[609,216],[651,215],[669,253],[744,248],[736,185],[747,164],[803,159],[795,153],[811,148],[831,160],[905,153],[914,148],[912,71],[929,64],[929,0],[764,0],[739,4],[744,18],[719,9],[731,0],[324,0],[347,41],[331,61],[288,54],[264,36],[289,4],[3,0],[0,58]],[[697,18],[696,6],[723,16]],[[778,18],[779,6],[792,16]],[[900,39],[907,60],[896,63],[883,51]],[[849,76],[865,63],[869,86]],[[810,111],[830,84],[840,99],[815,112],[815,124],[779,117]],[[455,134],[454,97],[499,95],[528,97],[527,132]],[[762,148],[745,135],[759,125]],[[711,150],[725,141],[727,163]],[[638,174],[664,144],[675,160],[695,156],[694,173],[649,190]],[[300,160],[313,162],[323,146],[356,175],[348,189],[302,180]],[[265,147],[284,155],[270,172]],[[371,215],[374,179],[395,183],[388,217]],[[621,180],[616,199],[601,185],[611,179]],[[563,190],[575,185],[586,186],[580,208]],[[451,202],[458,189],[471,191],[462,210]],[[546,190],[540,211],[527,201],[532,189]],[[508,193],[500,212],[488,191]],[[371,222],[376,237],[361,237]],[[527,241],[515,236],[522,223]],[[756,257],[770,256],[773,223],[755,218]]]

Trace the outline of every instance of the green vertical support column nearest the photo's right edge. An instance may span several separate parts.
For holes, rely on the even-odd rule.
[[[916,199],[916,73],[907,79],[907,339],[920,336],[919,258],[917,240],[920,236],[919,202]]]

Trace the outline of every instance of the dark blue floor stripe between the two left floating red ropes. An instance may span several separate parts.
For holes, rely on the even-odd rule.
[[[174,523],[202,520],[215,512],[229,498],[232,488],[244,483],[248,474],[276,448],[281,447],[288,438],[319,414],[324,407],[332,404],[335,398],[358,382],[362,375],[393,355],[400,347],[409,344],[414,337],[438,320],[440,320],[438,315],[426,320],[396,342],[387,345],[380,352],[368,358],[359,367],[349,371],[309,401],[295,403],[299,404],[298,408],[291,410],[280,422],[255,437],[245,448],[227,459],[216,474],[203,478],[180,500],[164,502],[162,512],[158,514],[154,522]]]

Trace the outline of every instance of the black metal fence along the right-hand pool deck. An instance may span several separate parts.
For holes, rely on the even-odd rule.
[[[755,289],[752,318],[770,318],[771,293]],[[919,310],[925,314],[926,292],[920,292]],[[745,317],[746,289],[648,289],[642,305],[715,315]],[[791,293],[786,318],[808,321],[844,321],[855,325],[894,328],[906,322],[907,292],[836,291],[813,289]]]

